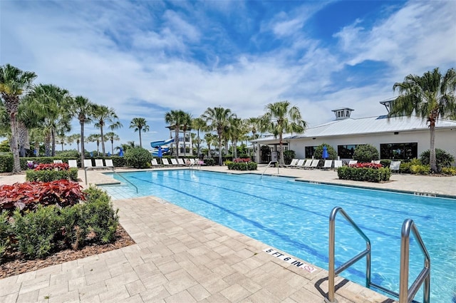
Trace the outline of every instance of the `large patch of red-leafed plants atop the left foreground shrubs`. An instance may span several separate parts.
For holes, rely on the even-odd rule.
[[[70,180],[26,182],[0,186],[0,210],[34,210],[41,205],[66,207],[86,200],[82,187]]]

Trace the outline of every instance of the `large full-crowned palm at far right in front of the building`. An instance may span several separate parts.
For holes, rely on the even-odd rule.
[[[445,76],[434,68],[423,76],[408,75],[403,82],[394,83],[393,91],[399,96],[393,101],[389,116],[417,115],[427,120],[430,130],[430,170],[437,173],[435,158],[435,123],[445,115],[454,115],[456,111],[456,71],[450,68]]]

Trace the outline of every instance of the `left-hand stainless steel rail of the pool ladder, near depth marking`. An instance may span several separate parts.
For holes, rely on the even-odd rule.
[[[351,258],[343,265],[334,269],[335,266],[335,245],[336,245],[336,215],[338,212],[341,212],[343,217],[351,224],[351,226],[358,232],[364,240],[366,240],[366,250],[360,252],[355,257]],[[334,285],[334,278],[336,274],[340,274],[343,270],[347,269],[354,263],[358,262],[361,258],[366,256],[366,287],[369,287],[371,284],[371,240],[366,236],[366,234],[361,230],[361,228],[356,225],[356,223],[351,219],[349,215],[342,209],[342,207],[334,207],[329,215],[329,265],[328,265],[328,298],[325,298],[325,302],[334,303],[337,300],[334,298],[334,293],[336,292]]]

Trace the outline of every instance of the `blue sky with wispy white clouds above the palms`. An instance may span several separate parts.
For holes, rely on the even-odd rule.
[[[118,143],[145,118],[146,147],[171,109],[249,118],[288,100],[315,126],[385,114],[395,82],[456,67],[456,1],[1,0],[0,16],[0,65],[113,107]]]

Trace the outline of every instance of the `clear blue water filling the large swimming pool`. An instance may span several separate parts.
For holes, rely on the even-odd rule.
[[[371,239],[372,279],[398,292],[400,230],[411,218],[431,257],[431,302],[452,302],[456,287],[456,200],[379,190],[294,182],[291,178],[199,170],[123,173],[131,185],[105,186],[114,198],[154,195],[242,232],[266,245],[328,269],[328,216],[341,206]],[[120,181],[118,176],[113,175]],[[265,245],[265,248],[267,247]],[[336,220],[336,266],[366,248],[343,219]],[[341,274],[365,281],[363,259]],[[410,240],[410,282],[423,255]],[[422,301],[420,291],[415,297]]]

